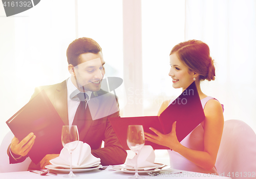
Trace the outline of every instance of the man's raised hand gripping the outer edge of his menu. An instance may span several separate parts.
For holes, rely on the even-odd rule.
[[[25,137],[22,141],[14,136],[11,143],[11,152],[17,156],[26,156],[30,149],[32,148],[35,142],[35,135],[30,133],[27,137]]]

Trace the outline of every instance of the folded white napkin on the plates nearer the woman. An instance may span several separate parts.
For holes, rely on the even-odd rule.
[[[137,157],[138,169],[150,170],[160,167],[160,165],[154,164],[156,156],[154,149],[151,145],[144,145]],[[135,168],[135,156],[133,159],[126,160],[125,168]]]

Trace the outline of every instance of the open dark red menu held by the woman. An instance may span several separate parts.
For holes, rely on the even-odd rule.
[[[143,117],[113,117],[110,123],[125,150],[129,150],[126,143],[128,125],[143,125],[147,133],[155,134],[149,128],[153,127],[162,134],[172,131],[172,125],[176,123],[176,135],[182,141],[195,127],[205,119],[201,100],[195,82],[182,92],[172,104],[170,104],[160,116]],[[154,149],[169,149],[168,147],[145,141],[145,145],[151,145]]]

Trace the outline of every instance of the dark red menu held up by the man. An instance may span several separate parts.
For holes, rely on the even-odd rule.
[[[6,123],[19,141],[29,133],[34,133],[36,139],[28,156],[35,164],[47,154],[59,154],[63,148],[61,130],[62,125],[65,124],[44,90],[31,99]]]

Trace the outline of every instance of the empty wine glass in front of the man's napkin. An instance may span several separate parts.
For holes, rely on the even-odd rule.
[[[78,177],[79,175],[75,175],[72,171],[72,151],[77,147],[79,142],[78,129],[76,125],[62,126],[61,142],[63,147],[68,149],[68,151],[70,152],[70,172],[68,175],[65,175],[63,177],[66,177],[66,178]]]

